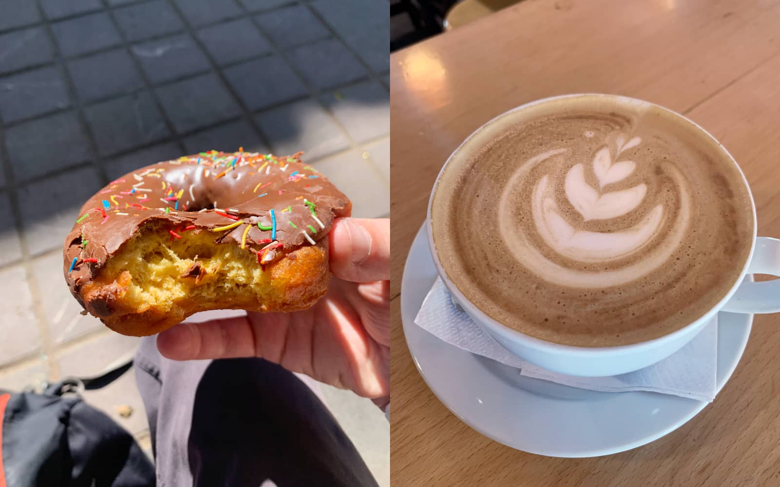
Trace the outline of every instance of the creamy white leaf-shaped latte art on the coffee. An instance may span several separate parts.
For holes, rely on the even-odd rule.
[[[587,131],[592,134],[592,131]],[[592,135],[591,135],[592,137]],[[627,143],[623,143],[626,137],[620,134],[616,137],[616,154],[639,146],[641,138],[634,136]],[[522,185],[528,178],[528,173],[537,164],[548,161],[551,157],[559,156],[562,164],[566,164],[566,148],[548,150],[532,157],[521,164],[512,178],[505,186],[502,196],[498,200],[499,221],[511,221],[512,192]],[[647,184],[640,182],[625,189],[605,191],[605,186],[624,181],[636,169],[634,161],[612,161],[612,154],[608,146],[596,151],[589,168],[585,164],[576,162],[566,171],[564,181],[557,185],[564,187],[566,203],[569,203],[580,217],[582,222],[608,221],[622,217],[636,211],[647,196]],[[585,172],[591,171],[597,182],[594,188],[586,180]],[[534,249],[534,243],[527,237],[523,228],[510,224],[502,225],[504,241],[509,249],[514,252],[516,258],[534,271],[538,277],[545,281],[565,284],[573,288],[606,288],[619,284],[635,281],[637,277],[658,269],[668,261],[672,253],[679,247],[682,236],[685,234],[690,219],[690,195],[686,189],[686,182],[672,166],[667,171],[675,179],[675,188],[679,190],[679,212],[676,217],[670,211],[665,211],[664,204],[652,206],[647,213],[640,217],[640,221],[628,228],[610,228],[608,231],[591,231],[581,228],[562,214],[555,201],[556,182],[551,176],[544,174],[534,185],[530,198],[530,213],[534,221],[534,229],[541,236],[544,244],[558,255],[583,263],[606,263],[615,259],[630,256],[633,252],[640,252],[653,239],[663,239],[653,255],[645,256],[640,263],[619,267],[614,270],[584,271],[567,269],[558,265],[554,260],[544,257]],[[523,202],[518,202],[521,205]],[[648,206],[647,203],[642,206]],[[668,225],[665,235],[659,235],[661,224],[665,219],[674,218],[674,222]]]

